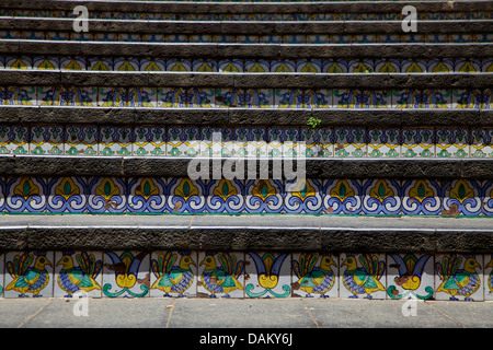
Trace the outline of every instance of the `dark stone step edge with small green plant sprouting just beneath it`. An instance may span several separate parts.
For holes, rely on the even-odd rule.
[[[492,127],[493,110],[459,108],[103,108],[2,106],[0,122],[12,125]]]

